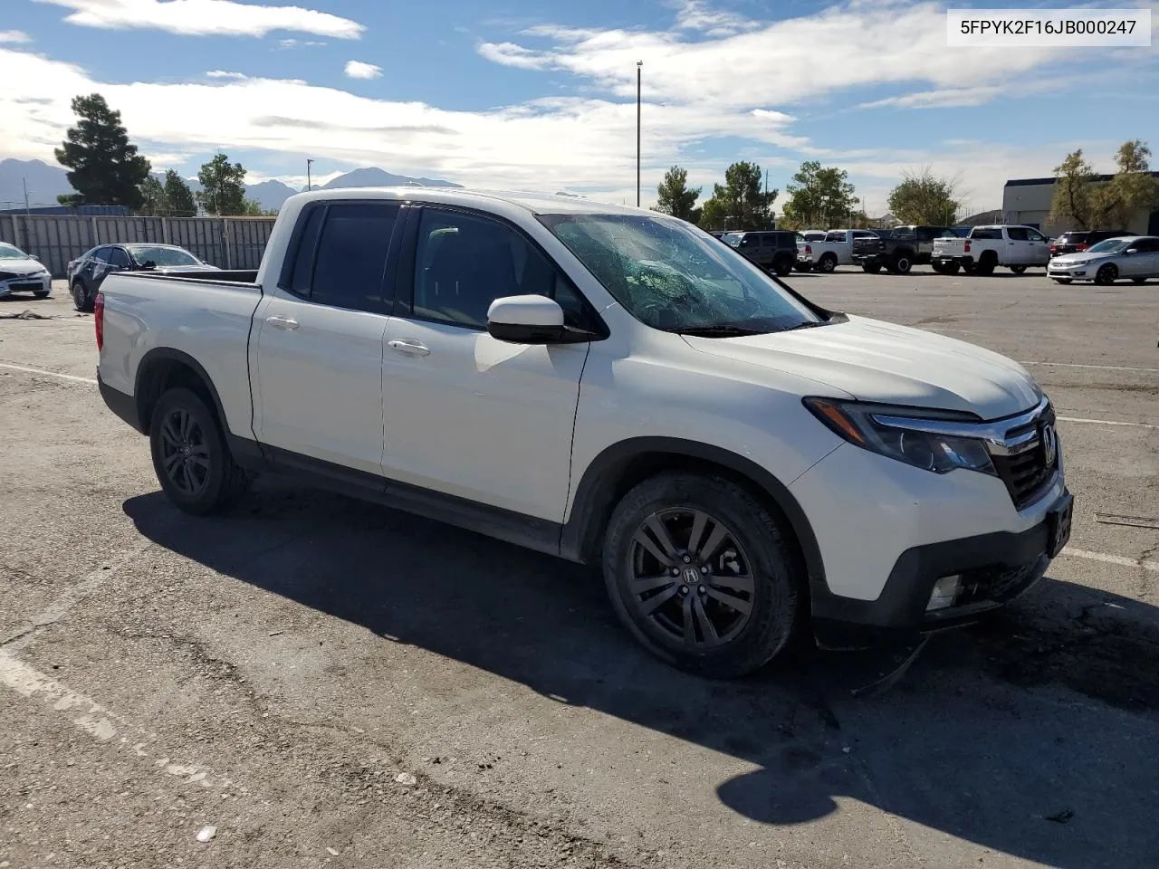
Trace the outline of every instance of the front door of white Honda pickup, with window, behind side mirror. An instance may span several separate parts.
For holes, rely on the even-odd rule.
[[[589,344],[511,344],[487,333],[504,295],[578,292],[522,233],[495,219],[423,207],[399,272],[382,364],[387,477],[563,521],[580,375]],[[410,265],[411,253],[413,268]]]

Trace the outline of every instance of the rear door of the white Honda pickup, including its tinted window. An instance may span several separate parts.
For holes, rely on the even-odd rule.
[[[276,460],[309,469],[302,457],[321,460],[351,482],[381,477],[387,260],[400,211],[323,199],[299,217],[293,253],[254,314],[254,429]]]

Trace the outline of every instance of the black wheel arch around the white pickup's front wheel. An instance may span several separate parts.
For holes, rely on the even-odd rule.
[[[810,590],[825,587],[821,547],[797,499],[780,480],[751,459],[722,447],[670,437],[639,437],[599,453],[575,487],[571,512],[560,534],[560,554],[582,563],[598,561],[612,510],[628,490],[665,470],[726,476],[749,489],[792,532]]]

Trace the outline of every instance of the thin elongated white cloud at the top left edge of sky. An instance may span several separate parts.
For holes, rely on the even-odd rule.
[[[350,19],[299,6],[261,6],[234,0],[36,0],[72,9],[70,24],[104,29],[156,29],[194,36],[265,36],[297,30],[357,39],[366,28]]]

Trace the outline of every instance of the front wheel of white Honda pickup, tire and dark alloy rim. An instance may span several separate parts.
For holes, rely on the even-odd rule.
[[[612,512],[604,580],[620,621],[650,652],[701,676],[744,676],[793,634],[803,574],[788,539],[730,480],[664,473]]]

